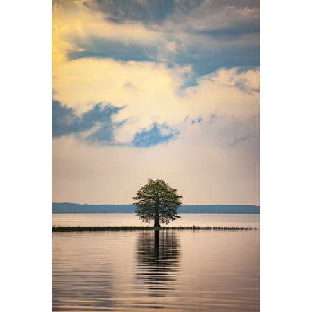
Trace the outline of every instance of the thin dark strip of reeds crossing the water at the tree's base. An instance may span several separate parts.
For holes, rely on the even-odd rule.
[[[52,227],[52,232],[93,232],[93,231],[168,231],[168,230],[206,230],[206,231],[250,231],[256,227]]]

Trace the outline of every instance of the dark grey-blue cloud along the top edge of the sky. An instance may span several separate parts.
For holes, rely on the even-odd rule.
[[[94,12],[119,24],[140,22],[166,31],[259,31],[259,0],[94,0],[85,1]]]

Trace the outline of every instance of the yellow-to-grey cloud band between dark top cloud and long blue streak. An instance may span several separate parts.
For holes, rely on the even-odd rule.
[[[71,52],[83,51],[82,46],[92,46],[92,38],[119,42],[126,45],[148,46],[157,50],[153,57],[159,61],[170,61],[174,55],[191,49],[218,51],[220,48],[239,49],[244,46],[259,46],[259,34],[241,33],[239,36],[218,38],[200,34],[223,28],[248,30],[259,25],[259,8],[219,6],[204,1],[187,12],[175,11],[159,25],[146,25],[140,21],[114,23],[105,12],[90,10],[77,0],[72,6],[64,3],[53,6],[53,64],[64,62]],[[83,45],[81,46],[81,43]],[[94,47],[96,49],[96,47]]]

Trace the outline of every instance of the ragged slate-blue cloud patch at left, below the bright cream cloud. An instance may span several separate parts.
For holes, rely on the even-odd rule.
[[[147,148],[164,144],[175,139],[179,134],[177,129],[166,124],[154,123],[150,129],[141,129],[135,133],[130,144],[116,141],[115,131],[122,127],[125,121],[114,123],[112,116],[118,114],[121,108],[102,103],[96,104],[91,110],[78,116],[72,108],[67,108],[59,101],[52,101],[52,134],[54,138],[75,135],[76,139],[88,144],[125,145]]]

